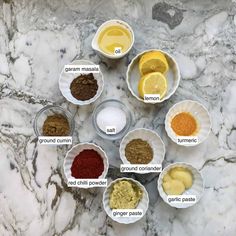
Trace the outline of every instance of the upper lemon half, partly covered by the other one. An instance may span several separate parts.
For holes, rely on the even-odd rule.
[[[168,62],[162,52],[147,52],[139,60],[139,71],[141,75],[151,72],[165,74],[169,70]]]

